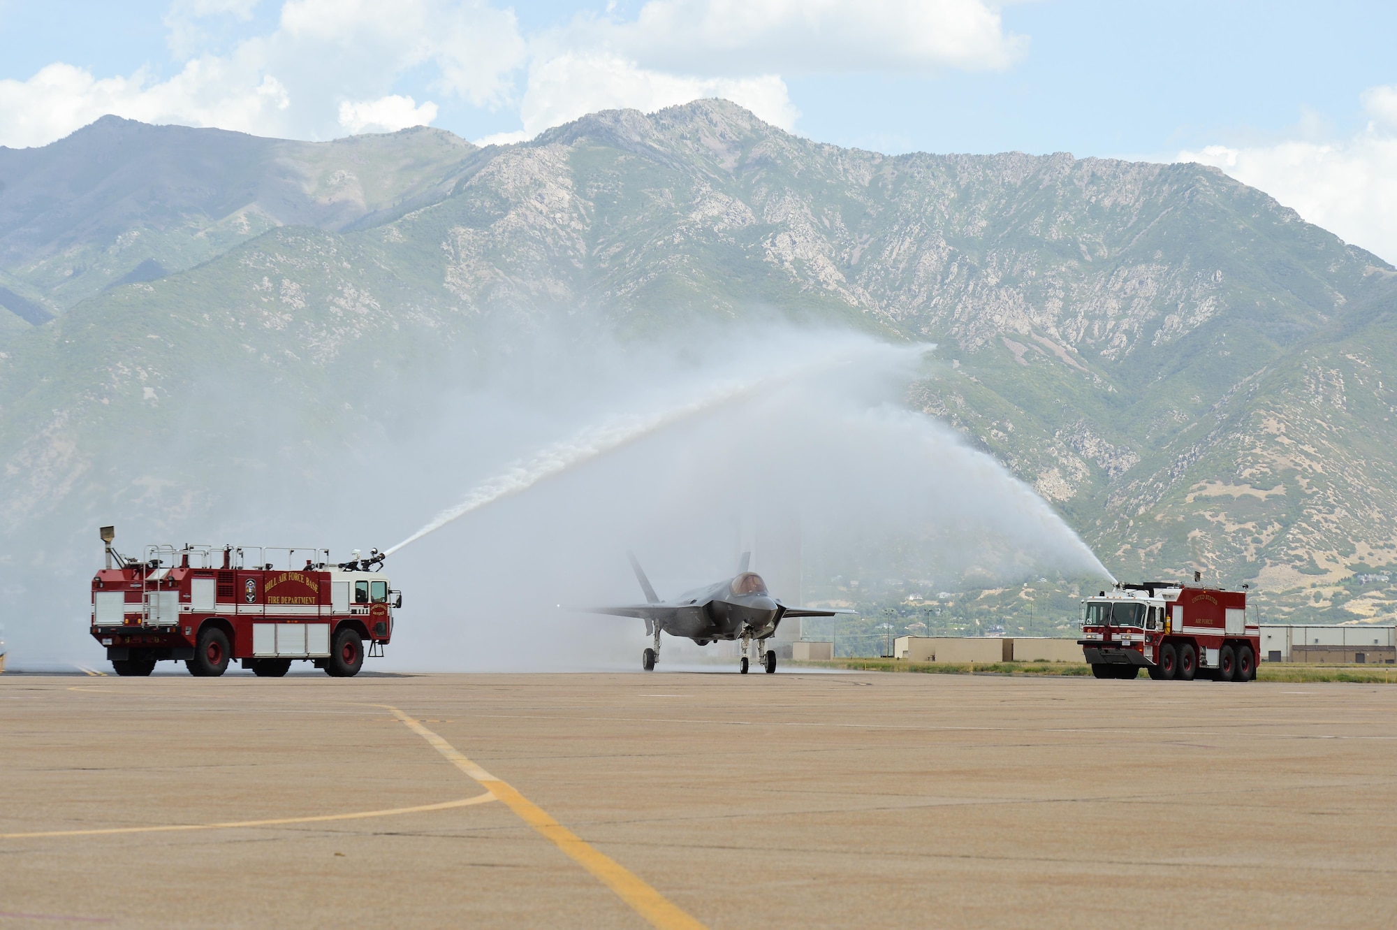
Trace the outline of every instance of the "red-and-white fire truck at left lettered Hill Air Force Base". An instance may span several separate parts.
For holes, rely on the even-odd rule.
[[[377,549],[339,564],[309,546],[148,546],[141,559],[126,559],[115,536],[102,528],[106,567],[92,577],[92,637],[117,674],[149,674],[175,659],[190,674],[218,676],[240,659],[258,676],[279,677],[306,659],[349,677],[365,655],[383,655],[393,610],[402,606]]]

